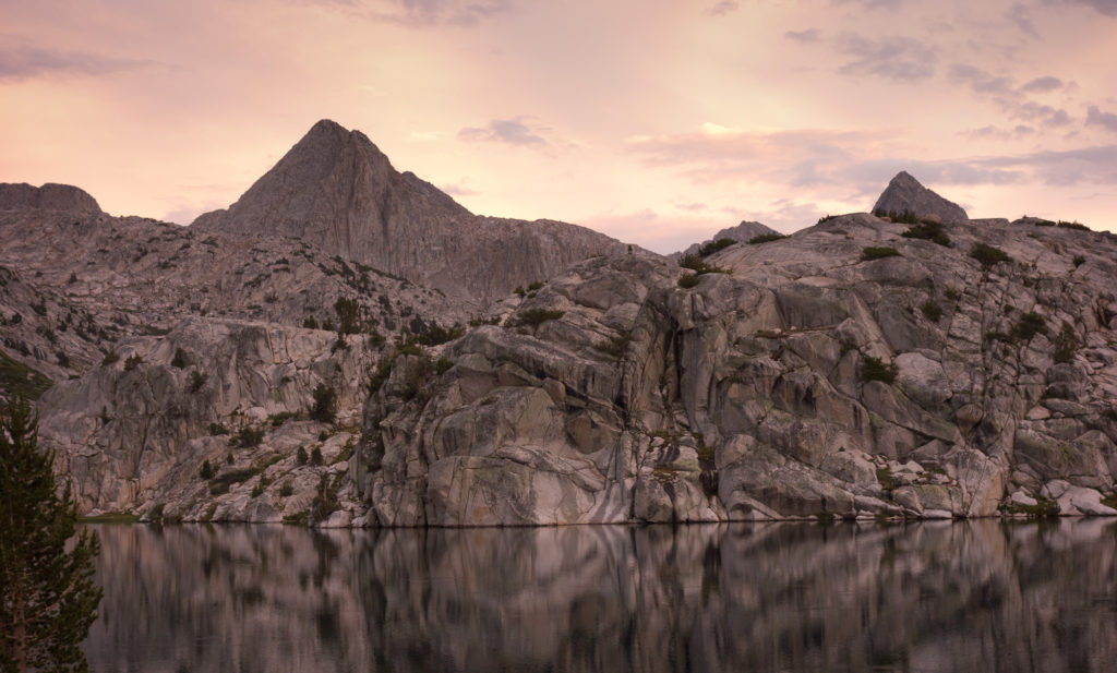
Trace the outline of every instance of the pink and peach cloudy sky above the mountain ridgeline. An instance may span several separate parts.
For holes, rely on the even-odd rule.
[[[1117,0],[0,0],[0,182],[189,223],[319,118],[660,252],[865,211],[1117,228]]]

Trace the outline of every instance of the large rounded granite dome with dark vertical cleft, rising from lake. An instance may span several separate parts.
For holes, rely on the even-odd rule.
[[[1114,237],[907,229],[855,214],[734,246],[693,289],[662,258],[590,260],[445,373],[397,359],[353,458],[369,522],[1109,513]]]

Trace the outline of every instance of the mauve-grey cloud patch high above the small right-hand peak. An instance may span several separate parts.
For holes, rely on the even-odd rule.
[[[914,38],[887,36],[879,39],[843,32],[837,47],[851,56],[839,71],[843,75],[870,75],[897,81],[919,81],[935,74],[938,50]]]

